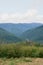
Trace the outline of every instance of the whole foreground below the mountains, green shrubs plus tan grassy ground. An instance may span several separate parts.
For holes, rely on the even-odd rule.
[[[0,65],[43,65],[43,45],[0,44]]]

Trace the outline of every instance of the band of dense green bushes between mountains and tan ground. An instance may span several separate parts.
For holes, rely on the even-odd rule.
[[[30,43],[0,44],[0,58],[40,57],[43,58],[43,46]]]

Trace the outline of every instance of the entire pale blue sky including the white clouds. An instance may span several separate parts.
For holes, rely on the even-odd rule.
[[[43,0],[0,0],[0,23],[43,23]]]

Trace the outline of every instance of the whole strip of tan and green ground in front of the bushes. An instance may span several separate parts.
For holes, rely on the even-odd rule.
[[[0,65],[43,65],[43,58],[0,58]]]

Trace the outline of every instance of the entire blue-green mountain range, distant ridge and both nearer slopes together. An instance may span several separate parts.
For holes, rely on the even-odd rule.
[[[43,25],[40,23],[2,23],[0,42],[20,42],[25,40],[43,42]]]

